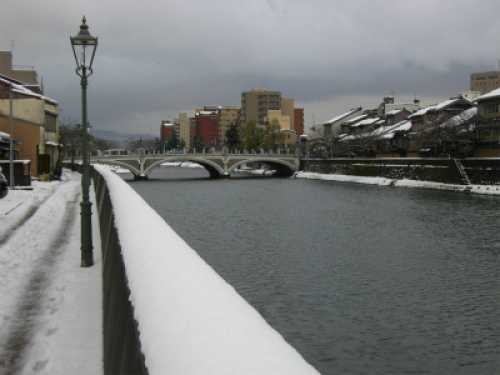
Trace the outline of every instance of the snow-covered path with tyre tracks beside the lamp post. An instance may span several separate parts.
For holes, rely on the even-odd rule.
[[[80,175],[0,200],[0,374],[102,374],[102,273],[80,267]],[[93,189],[91,200],[95,202]]]

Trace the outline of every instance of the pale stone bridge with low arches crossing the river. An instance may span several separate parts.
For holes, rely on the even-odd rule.
[[[124,155],[126,154],[126,155]],[[231,173],[239,166],[249,163],[262,163],[276,170],[274,176],[288,177],[299,170],[300,155],[287,152],[281,154],[260,153],[234,153],[230,154],[227,149],[216,153],[188,153],[186,150],[178,150],[178,153],[146,153],[145,149],[135,152],[124,150],[109,150],[104,153],[98,152],[96,156],[90,157],[91,163],[110,164],[128,169],[134,174],[135,179],[147,179],[153,169],[165,162],[193,162],[203,166],[211,178],[229,178]]]

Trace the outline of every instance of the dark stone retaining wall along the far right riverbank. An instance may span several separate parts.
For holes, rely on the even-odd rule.
[[[324,174],[463,184],[464,179],[459,170],[461,164],[471,184],[500,184],[500,159],[460,159],[457,161],[458,164],[455,159],[302,159],[300,169]]]

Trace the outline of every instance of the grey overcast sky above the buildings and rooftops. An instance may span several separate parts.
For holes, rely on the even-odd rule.
[[[33,65],[62,120],[80,121],[69,37],[99,37],[96,129],[159,136],[161,120],[242,91],[281,91],[306,128],[350,108],[448,99],[498,70],[498,0],[1,0],[0,50]]]

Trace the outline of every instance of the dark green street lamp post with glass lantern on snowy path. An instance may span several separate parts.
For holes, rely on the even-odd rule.
[[[76,61],[76,74],[81,77],[82,86],[82,201],[80,203],[81,213],[81,251],[82,267],[90,267],[94,264],[92,246],[92,203],[89,197],[90,188],[90,160],[89,160],[89,135],[87,132],[87,77],[92,72],[95,50],[97,48],[97,37],[90,35],[89,27],[83,16],[80,32],[70,37],[71,47]]]

